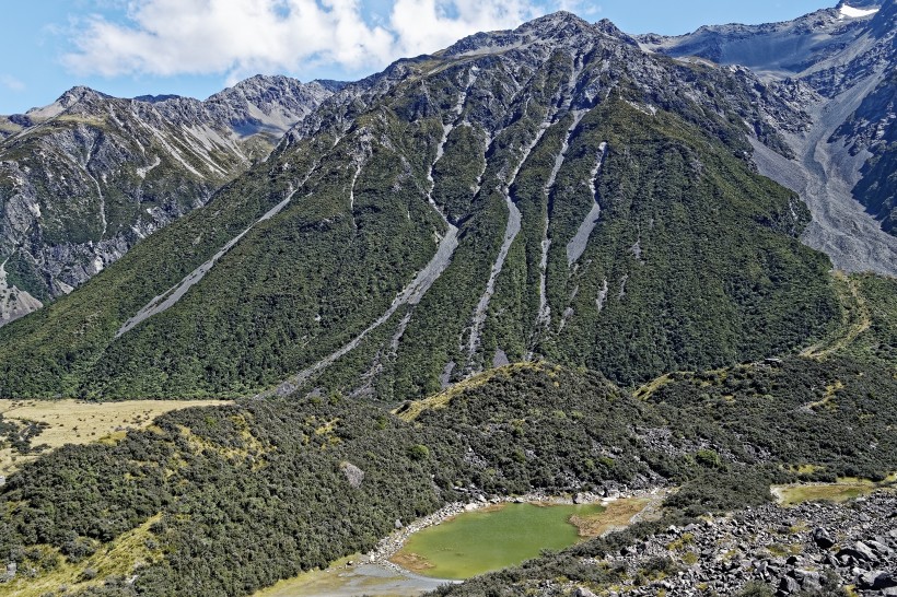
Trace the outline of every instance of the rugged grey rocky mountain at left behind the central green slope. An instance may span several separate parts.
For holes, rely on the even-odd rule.
[[[0,325],[205,204],[338,87],[258,75],[205,102],[74,87],[0,121]]]

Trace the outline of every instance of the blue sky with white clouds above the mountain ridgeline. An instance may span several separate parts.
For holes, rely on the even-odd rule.
[[[83,84],[205,98],[255,73],[354,80],[392,60],[559,9],[628,33],[766,23],[836,0],[8,0],[0,114]]]

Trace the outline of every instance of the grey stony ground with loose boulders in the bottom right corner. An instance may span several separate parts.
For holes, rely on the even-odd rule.
[[[589,563],[626,569],[625,584],[592,587],[609,596],[737,595],[758,584],[780,596],[897,596],[897,493],[708,517]]]

